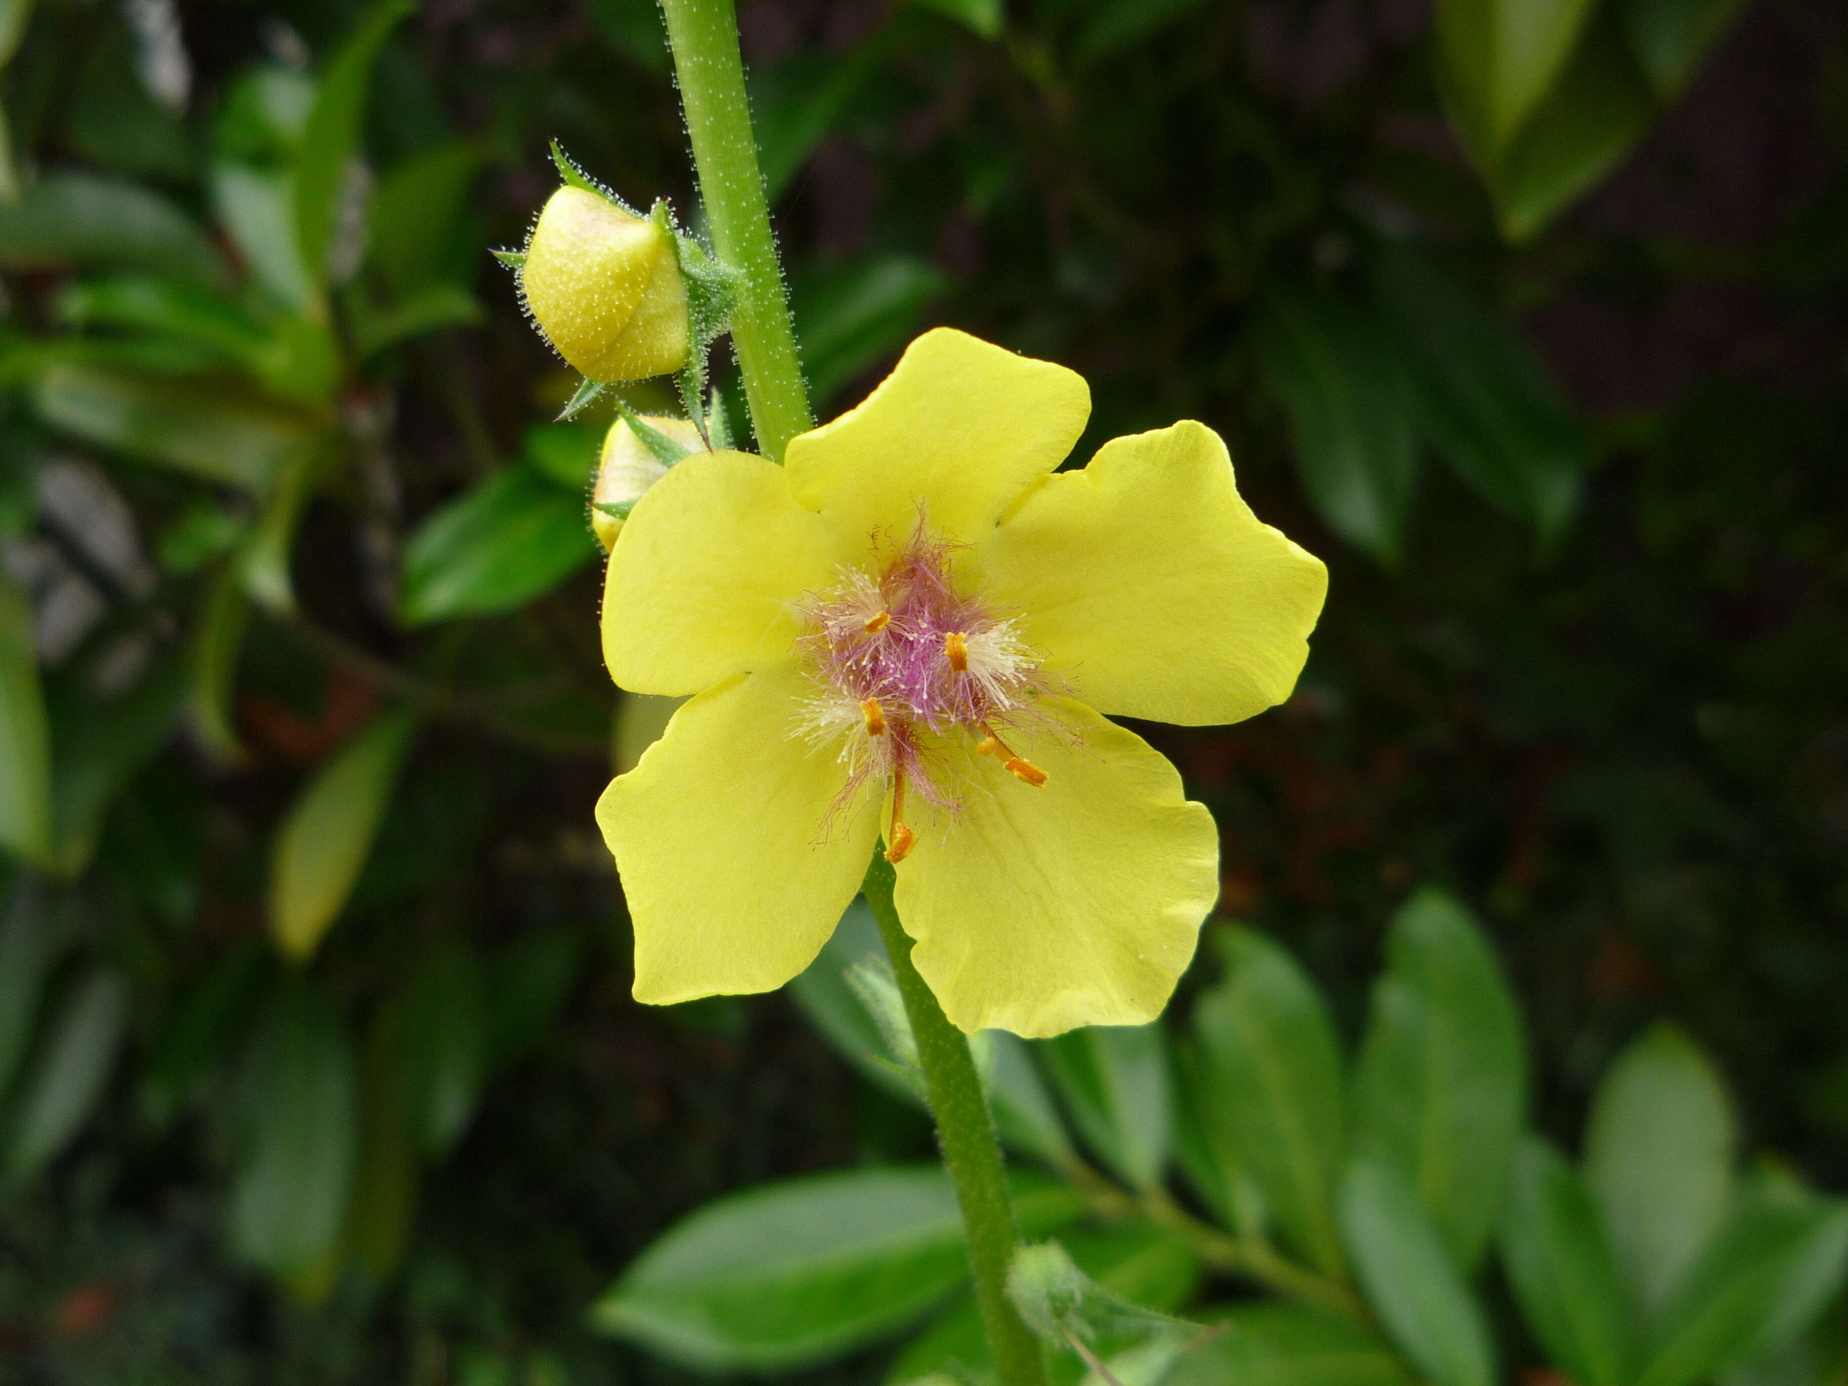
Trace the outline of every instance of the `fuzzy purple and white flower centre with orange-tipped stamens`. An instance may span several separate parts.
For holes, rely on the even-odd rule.
[[[1029,724],[1033,702],[1052,691],[1042,662],[1018,621],[957,590],[950,554],[952,545],[920,519],[896,553],[876,547],[865,569],[843,569],[833,588],[800,608],[796,649],[817,684],[802,734],[837,747],[848,767],[835,811],[869,782],[893,787],[891,861],[917,843],[906,826],[907,793],[957,808],[944,763],[957,741],[998,758],[1020,784],[1046,784],[1046,771],[1002,739]]]

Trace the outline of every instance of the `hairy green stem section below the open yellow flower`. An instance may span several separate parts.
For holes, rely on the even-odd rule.
[[[994,1135],[989,1100],[981,1094],[968,1039],[950,1024],[911,965],[911,939],[898,924],[893,883],[891,863],[876,852],[861,889],[885,937],[885,952],[893,957],[898,992],[906,998],[906,1015],[911,1016],[911,1033],[918,1042],[918,1068],[924,1070],[924,1090],[930,1094],[931,1116],[937,1118],[937,1144],[968,1231],[968,1266],[994,1358],[994,1379],[1000,1386],[1046,1386],[1046,1360],[1039,1340],[1007,1297],[1007,1266],[1020,1246],[1020,1225],[1015,1222],[1007,1166],[1002,1162],[1002,1142]]]

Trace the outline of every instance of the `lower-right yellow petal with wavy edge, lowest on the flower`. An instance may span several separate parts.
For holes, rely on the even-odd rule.
[[[1046,784],[970,756],[963,811],[920,806],[898,863],[911,959],[968,1033],[1153,1020],[1220,893],[1218,830],[1173,765],[1079,702],[1048,711],[1059,730],[1009,736]]]

